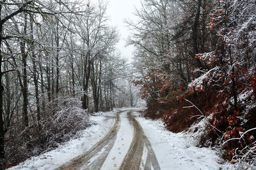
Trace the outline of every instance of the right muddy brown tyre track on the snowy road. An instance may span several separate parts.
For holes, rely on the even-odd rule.
[[[130,123],[132,123],[134,127],[134,135],[130,149],[125,156],[120,169],[140,169],[144,145],[147,148],[147,160],[145,165],[143,165],[144,168],[160,169],[154,150],[152,149],[150,142],[145,136],[143,129],[141,128],[138,121],[133,118],[131,112],[128,112],[127,114]]]

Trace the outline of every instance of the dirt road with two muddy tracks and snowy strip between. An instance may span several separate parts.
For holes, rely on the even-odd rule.
[[[103,139],[58,169],[160,169],[151,144],[132,112],[117,112],[113,127]],[[132,137],[131,143],[125,137]]]

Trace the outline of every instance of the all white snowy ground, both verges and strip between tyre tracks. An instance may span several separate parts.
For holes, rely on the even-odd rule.
[[[10,169],[56,169],[62,166],[72,158],[86,153],[94,144],[103,139],[109,130],[113,128],[116,113],[119,111],[122,112],[119,114],[116,135],[111,138],[113,141],[112,146],[110,143],[106,143],[106,146],[90,158],[81,169],[93,169],[95,162],[99,162],[98,159],[100,158],[102,158],[102,164],[99,166],[101,169],[125,167],[124,160],[130,161],[131,156],[129,154],[132,154],[133,150],[138,150],[137,153],[139,154],[136,154],[139,155],[141,169],[234,168],[231,165],[222,165],[220,163],[222,160],[216,155],[216,151],[211,148],[195,147],[195,142],[188,135],[169,132],[164,128],[162,121],[147,120],[141,117],[139,112],[136,112],[139,110],[141,109],[124,108],[113,112],[99,112],[94,116],[90,116],[90,120],[94,121],[95,125],[79,132],[80,137],[77,139],[61,145],[56,150],[49,151],[38,157],[29,158],[19,166]],[[134,120],[129,114],[135,116],[134,118],[138,122],[139,128],[135,128]],[[138,134],[139,139],[143,138],[143,140],[141,140],[140,147],[132,148],[134,139],[136,139],[135,132],[140,133]],[[108,148],[109,151],[106,152]],[[154,157],[156,157],[155,160]],[[157,164],[157,166],[154,164]]]

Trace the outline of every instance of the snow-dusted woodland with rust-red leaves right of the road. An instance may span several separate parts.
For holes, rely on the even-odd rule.
[[[172,132],[204,119],[200,146],[255,166],[256,2],[144,0],[136,16],[127,21],[140,71],[133,82],[147,116]]]

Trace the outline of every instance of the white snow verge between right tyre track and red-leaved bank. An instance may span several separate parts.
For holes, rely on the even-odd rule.
[[[135,113],[134,113],[135,114]],[[184,133],[174,134],[164,128],[161,120],[146,120],[136,113],[136,120],[152,144],[161,169],[233,169],[221,165],[220,157],[211,148],[198,148],[194,139]]]

